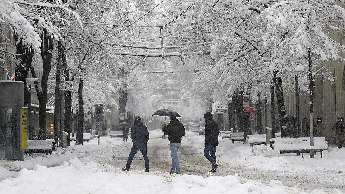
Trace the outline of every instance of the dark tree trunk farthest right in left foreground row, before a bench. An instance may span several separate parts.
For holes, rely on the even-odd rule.
[[[78,128],[76,145],[83,144],[83,122],[84,122],[84,107],[83,107],[83,77],[80,75],[78,88]]]

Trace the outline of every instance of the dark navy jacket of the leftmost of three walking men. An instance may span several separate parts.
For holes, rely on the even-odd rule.
[[[147,127],[143,125],[140,120],[134,120],[134,125],[131,128],[130,138],[133,139],[133,147],[146,147],[150,135]]]

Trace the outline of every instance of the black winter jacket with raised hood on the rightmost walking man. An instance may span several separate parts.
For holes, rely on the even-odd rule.
[[[216,145],[218,146],[219,128],[217,122],[212,119],[212,114],[207,112],[205,118],[205,146]]]

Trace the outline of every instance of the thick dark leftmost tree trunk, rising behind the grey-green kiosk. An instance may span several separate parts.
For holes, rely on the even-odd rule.
[[[34,50],[32,48],[30,50],[30,48],[24,46],[21,40],[18,41],[17,35],[14,36],[14,40],[15,42],[18,42],[16,44],[16,59],[18,62],[16,62],[16,69],[14,71],[16,74],[16,81],[24,82],[24,105],[27,105],[30,98],[29,95],[31,88],[26,84],[26,78],[28,77],[28,67],[31,66]]]

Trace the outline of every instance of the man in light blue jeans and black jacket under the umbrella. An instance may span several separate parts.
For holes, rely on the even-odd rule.
[[[182,136],[186,135],[185,127],[176,117],[170,117],[168,126],[163,124],[163,133],[168,136],[171,151],[171,171],[170,174],[181,174],[180,164],[178,162],[177,151],[181,146]]]

